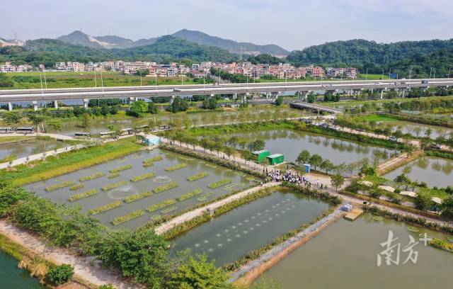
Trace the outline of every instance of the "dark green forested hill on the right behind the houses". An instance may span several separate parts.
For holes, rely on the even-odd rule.
[[[417,55],[429,55],[437,50],[453,48],[453,40],[403,41],[377,43],[356,39],[328,42],[323,45],[294,50],[287,60],[296,65],[331,65],[366,67],[369,64],[389,64],[396,60],[405,60]]]

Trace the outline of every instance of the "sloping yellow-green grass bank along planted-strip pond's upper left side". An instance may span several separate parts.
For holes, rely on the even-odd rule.
[[[105,145],[80,149],[78,152],[59,154],[58,158],[47,157],[45,162],[33,162],[33,167],[16,166],[16,170],[2,171],[1,174],[4,179],[18,185],[34,183],[79,171],[79,169],[101,164],[111,159],[124,157],[127,154],[139,151],[141,148],[141,145],[137,145],[130,138],[126,138]]]

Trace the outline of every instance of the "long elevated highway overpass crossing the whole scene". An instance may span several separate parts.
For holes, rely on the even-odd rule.
[[[173,86],[112,86],[86,87],[76,89],[20,89],[0,90],[0,103],[17,101],[63,101],[84,100],[97,98],[152,98],[155,96],[187,96],[214,94],[253,94],[274,93],[280,91],[362,91],[363,89],[396,89],[406,91],[413,87],[428,88],[436,86],[452,86],[453,79],[391,79],[391,80],[356,80],[356,81],[297,81],[297,82],[268,82],[248,84],[193,84]]]

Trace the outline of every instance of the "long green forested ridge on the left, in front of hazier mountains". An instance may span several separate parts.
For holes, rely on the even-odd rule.
[[[144,60],[168,63],[187,60],[188,62],[238,60],[239,55],[218,47],[197,45],[187,40],[163,36],[154,44],[127,49],[103,49],[72,45],[60,40],[30,40],[25,46],[0,47],[0,62],[14,64],[29,63],[35,66],[45,64],[52,67],[55,62],[103,62],[106,60]]]

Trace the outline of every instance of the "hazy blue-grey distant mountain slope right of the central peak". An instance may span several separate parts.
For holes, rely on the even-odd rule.
[[[283,49],[277,45],[256,45],[250,42],[236,42],[234,40],[228,40],[219,38],[216,36],[207,35],[200,31],[194,30],[179,30],[173,33],[172,36],[182,38],[190,42],[195,42],[200,45],[209,45],[228,50],[234,53],[254,54],[253,52],[260,52],[268,55],[288,55],[289,51]]]

